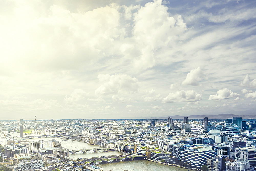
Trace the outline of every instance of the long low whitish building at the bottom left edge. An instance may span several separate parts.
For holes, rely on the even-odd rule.
[[[39,169],[44,166],[44,163],[42,160],[36,160],[31,162],[25,162],[25,163],[17,163],[13,167],[13,171],[21,171],[21,170],[29,170],[29,169]]]

